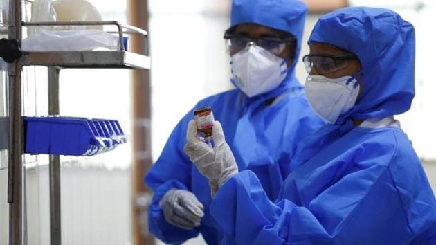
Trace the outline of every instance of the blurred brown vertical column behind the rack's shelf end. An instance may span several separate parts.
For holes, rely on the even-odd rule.
[[[129,0],[129,23],[148,30],[147,0]],[[149,55],[148,45],[137,35],[131,36],[131,51]],[[149,44],[149,39],[147,40]],[[151,90],[149,71],[133,71],[133,109],[134,109],[134,163],[132,173],[133,195],[133,235],[135,245],[155,244],[154,237],[147,227],[147,208],[151,192],[145,188],[143,178],[152,166],[150,117],[151,117]]]

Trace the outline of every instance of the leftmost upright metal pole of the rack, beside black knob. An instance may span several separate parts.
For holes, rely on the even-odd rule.
[[[21,0],[11,0],[9,6],[10,39],[21,41]],[[9,150],[8,150],[8,203],[9,244],[21,245],[22,241],[22,125],[21,118],[21,62],[9,65]]]

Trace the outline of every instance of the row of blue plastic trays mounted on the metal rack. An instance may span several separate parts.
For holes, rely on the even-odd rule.
[[[24,116],[23,122],[30,154],[93,156],[127,142],[117,120]]]

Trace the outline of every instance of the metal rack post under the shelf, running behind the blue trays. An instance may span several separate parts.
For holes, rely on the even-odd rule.
[[[48,67],[48,114],[59,114],[59,72],[55,66]],[[61,183],[60,156],[50,155],[50,244],[61,244]]]

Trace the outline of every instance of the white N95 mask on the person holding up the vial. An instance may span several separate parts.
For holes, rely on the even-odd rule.
[[[349,75],[341,78],[309,75],[305,88],[309,105],[331,124],[354,106],[360,89],[356,78]]]

